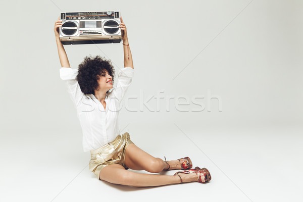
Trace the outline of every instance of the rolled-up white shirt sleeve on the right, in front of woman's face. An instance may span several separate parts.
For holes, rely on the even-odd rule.
[[[134,75],[134,69],[131,67],[118,69],[118,78],[116,81],[114,80],[116,86],[109,94],[109,98],[116,98],[118,99],[118,102],[121,103],[128,87],[131,84],[133,75]]]

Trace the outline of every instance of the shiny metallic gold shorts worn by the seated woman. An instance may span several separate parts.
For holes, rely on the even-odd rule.
[[[89,170],[99,179],[100,170],[111,164],[120,164],[125,169],[125,149],[133,143],[129,133],[118,135],[114,141],[94,150],[90,150]]]

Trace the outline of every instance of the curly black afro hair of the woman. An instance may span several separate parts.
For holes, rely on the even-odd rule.
[[[99,56],[86,56],[84,61],[78,66],[78,75],[76,77],[81,91],[84,94],[94,95],[94,90],[98,87],[97,76],[100,76],[105,70],[107,70],[109,75],[113,77],[112,79],[114,83],[115,70],[110,60],[106,60]],[[108,92],[109,91],[107,91],[107,93]]]

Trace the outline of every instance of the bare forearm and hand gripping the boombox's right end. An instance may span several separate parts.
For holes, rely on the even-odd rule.
[[[123,51],[124,51],[124,67],[131,67],[132,69],[134,69],[131,51],[130,51],[128,38],[127,38],[126,26],[123,22],[122,17],[120,19],[121,19],[120,27],[121,27],[121,32],[122,32],[121,36],[122,36]]]

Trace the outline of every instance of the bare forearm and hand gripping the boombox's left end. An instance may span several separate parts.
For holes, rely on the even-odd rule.
[[[55,28],[54,28],[54,32],[55,32],[55,36],[56,36],[56,43],[57,43],[57,47],[58,47],[58,54],[59,54],[61,67],[70,68],[70,64],[69,64],[65,49],[59,38],[59,27],[61,27],[62,25],[63,25],[63,23],[61,20],[59,20],[59,17],[58,17],[58,20],[55,22]]]

